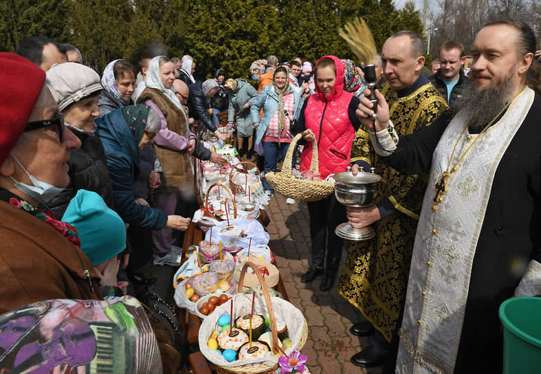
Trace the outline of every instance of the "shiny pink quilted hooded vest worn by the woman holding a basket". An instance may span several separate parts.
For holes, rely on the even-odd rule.
[[[351,145],[355,129],[349,120],[348,107],[353,94],[344,91],[344,65],[335,56],[336,83],[330,95],[323,96],[316,85],[316,94],[308,99],[305,108],[305,126],[316,135],[319,168],[322,178],[346,171],[350,165]],[[322,57],[323,58],[323,57]],[[319,63],[319,61],[318,61]],[[317,66],[317,64],[316,64]],[[300,170],[309,170],[312,145],[305,146],[300,155]]]

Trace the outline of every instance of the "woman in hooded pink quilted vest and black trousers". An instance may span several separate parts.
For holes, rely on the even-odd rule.
[[[300,156],[300,170],[309,170],[312,140],[316,140],[322,179],[329,174],[346,171],[355,131],[360,122],[355,115],[359,99],[344,91],[344,65],[336,56],[320,58],[314,69],[316,94],[309,96],[300,111],[295,132],[306,131],[307,144]],[[323,274],[322,291],[333,287],[340,257],[342,239],[334,233],[337,225],[346,221],[346,208],[336,201],[334,194],[327,199],[307,203],[310,215],[312,263],[302,275],[302,283],[310,283]],[[322,214],[327,212],[327,214]],[[327,243],[327,264],[325,247]]]

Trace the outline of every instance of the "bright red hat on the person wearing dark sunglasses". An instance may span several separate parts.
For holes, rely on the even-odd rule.
[[[26,58],[0,52],[0,165],[23,133],[45,82],[45,72]]]

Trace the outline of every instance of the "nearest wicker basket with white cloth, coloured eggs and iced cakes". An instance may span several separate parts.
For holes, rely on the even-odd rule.
[[[263,297],[242,294],[248,268],[258,277]],[[270,374],[278,369],[280,357],[304,346],[307,336],[300,310],[282,298],[272,298],[261,269],[248,259],[237,293],[203,320],[199,348],[218,374]]]

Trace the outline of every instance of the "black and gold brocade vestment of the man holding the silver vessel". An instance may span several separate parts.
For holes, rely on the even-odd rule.
[[[385,84],[382,94],[389,104],[390,120],[398,135],[429,126],[448,109],[445,99],[431,83],[402,98],[397,98],[396,91]],[[357,131],[351,151],[351,162],[358,160],[375,166],[375,173],[382,176],[376,201],[389,199],[397,212],[373,223],[373,239],[349,242],[338,290],[390,341],[406,296],[427,176],[403,175],[386,166],[375,155],[363,128]]]

